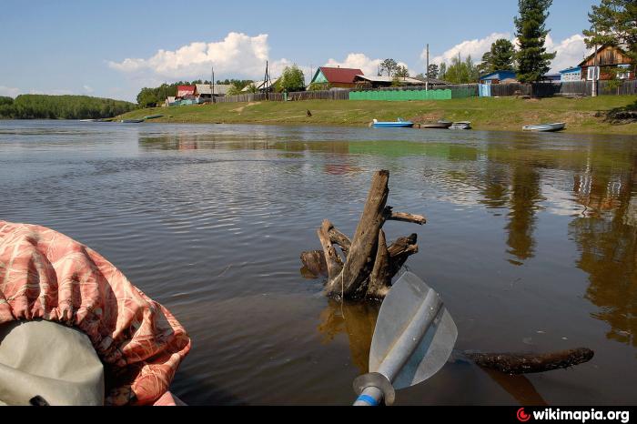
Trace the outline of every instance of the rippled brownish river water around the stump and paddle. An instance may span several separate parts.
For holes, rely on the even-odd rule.
[[[587,347],[529,377],[454,355],[398,404],[634,404],[637,137],[329,126],[0,121],[0,219],[95,248],[187,328],[193,405],[349,404],[377,308],[321,295],[299,253],[353,234],[373,171],[418,233],[456,348]]]

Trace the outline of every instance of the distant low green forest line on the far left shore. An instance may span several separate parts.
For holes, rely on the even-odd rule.
[[[5,119],[99,119],[135,108],[135,104],[123,100],[90,96],[0,97],[0,118]]]

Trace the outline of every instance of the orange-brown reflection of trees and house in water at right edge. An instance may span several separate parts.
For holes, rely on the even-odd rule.
[[[634,161],[637,162],[637,159]],[[607,337],[637,347],[637,202],[633,189],[637,163],[619,174],[590,174],[591,183],[576,195],[595,207],[591,217],[574,219],[569,228],[581,251],[577,266],[589,274],[586,298],[601,308],[593,317],[608,322]]]

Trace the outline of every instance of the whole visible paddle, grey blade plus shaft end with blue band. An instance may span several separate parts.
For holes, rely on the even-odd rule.
[[[429,379],[450,357],[458,328],[440,295],[407,272],[383,301],[369,352],[369,374],[354,380],[355,406],[394,403],[396,389]]]

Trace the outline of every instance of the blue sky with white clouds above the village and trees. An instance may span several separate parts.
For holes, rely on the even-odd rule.
[[[554,0],[547,46],[552,71],[587,52],[581,30],[599,0]],[[300,66],[376,73],[394,58],[411,75],[430,63],[471,55],[480,61],[497,38],[515,38],[516,0],[2,0],[0,96],[42,93],[134,101],[163,82],[262,78]]]

